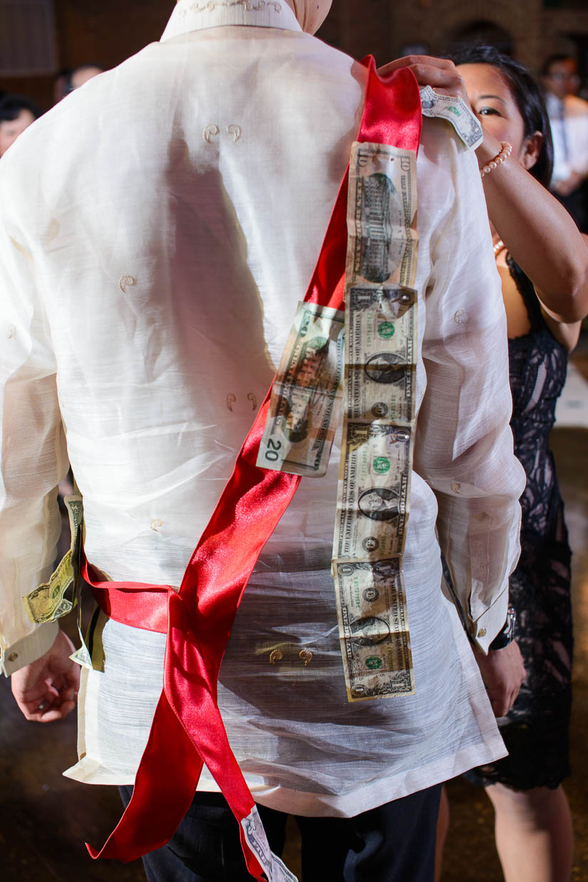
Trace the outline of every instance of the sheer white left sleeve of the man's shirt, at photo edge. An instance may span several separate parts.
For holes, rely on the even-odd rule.
[[[55,356],[33,248],[11,217],[19,197],[8,176],[18,176],[7,160],[0,168],[0,669],[9,676],[56,637],[56,623],[33,624],[22,598],[50,576],[61,527],[57,483],[68,463]]]

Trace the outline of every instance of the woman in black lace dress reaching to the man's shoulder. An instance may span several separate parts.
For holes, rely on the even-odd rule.
[[[545,189],[553,162],[551,133],[528,71],[489,47],[466,49],[456,59],[457,70],[449,61],[427,57],[404,62],[421,85],[469,100],[484,128],[477,158],[485,172],[507,315],[515,452],[527,475],[521,557],[510,578],[526,678],[499,721],[509,756],[468,777],[485,786],[494,804],[507,882],[565,882],[573,848],[561,786],[569,775],[570,551],[548,437],[568,353],[588,311],[588,249]],[[496,157],[501,159],[491,164]]]

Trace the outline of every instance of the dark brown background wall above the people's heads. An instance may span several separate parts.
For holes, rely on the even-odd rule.
[[[107,68],[120,64],[159,40],[174,2],[54,0],[56,71],[88,62]],[[535,71],[548,54],[572,52],[588,75],[586,0],[333,0],[319,35],[356,57],[372,52],[381,64],[409,48],[440,53],[477,35],[500,42]],[[47,109],[55,73],[6,77],[0,72],[0,90],[28,94]]]

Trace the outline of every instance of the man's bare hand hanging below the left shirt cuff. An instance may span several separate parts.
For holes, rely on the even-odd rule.
[[[74,649],[60,631],[47,653],[12,674],[12,695],[27,720],[63,720],[76,706],[79,665],[70,658]]]

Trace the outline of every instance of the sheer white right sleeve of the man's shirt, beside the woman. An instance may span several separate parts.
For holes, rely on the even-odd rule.
[[[513,452],[506,317],[480,172],[473,152],[448,142],[454,192],[431,240],[414,468],[435,493],[454,600],[486,652],[506,618],[525,472]]]

